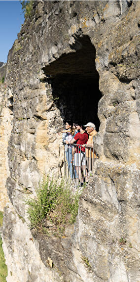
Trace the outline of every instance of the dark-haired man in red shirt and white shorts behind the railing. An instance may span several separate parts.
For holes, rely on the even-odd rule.
[[[76,142],[76,152],[74,154],[74,166],[76,168],[77,176],[83,185],[83,175],[85,181],[88,182],[88,173],[86,170],[86,158],[85,158],[85,148],[82,146],[88,141],[88,134],[82,129],[81,123],[76,125],[76,129],[79,131],[72,140],[70,144]],[[79,145],[79,146],[77,146]],[[83,171],[83,174],[82,174]]]

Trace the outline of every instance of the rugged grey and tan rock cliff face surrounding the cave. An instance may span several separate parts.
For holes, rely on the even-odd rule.
[[[9,51],[8,282],[140,281],[139,15],[139,1],[35,1]],[[63,173],[56,133],[71,117],[100,126],[72,238],[31,234],[23,200]]]

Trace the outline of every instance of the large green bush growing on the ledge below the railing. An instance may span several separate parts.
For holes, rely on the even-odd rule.
[[[29,205],[30,228],[44,232],[43,220],[46,218],[55,225],[55,231],[52,233],[62,235],[65,227],[76,220],[80,194],[73,194],[64,179],[61,182],[56,179],[49,181],[47,176],[36,188],[36,199],[26,200]]]

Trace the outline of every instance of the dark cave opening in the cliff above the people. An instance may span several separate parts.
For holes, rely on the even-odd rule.
[[[75,38],[75,52],[62,55],[43,68],[52,86],[53,99],[66,122],[93,122],[99,130],[99,74],[95,66],[96,49],[88,36]]]

